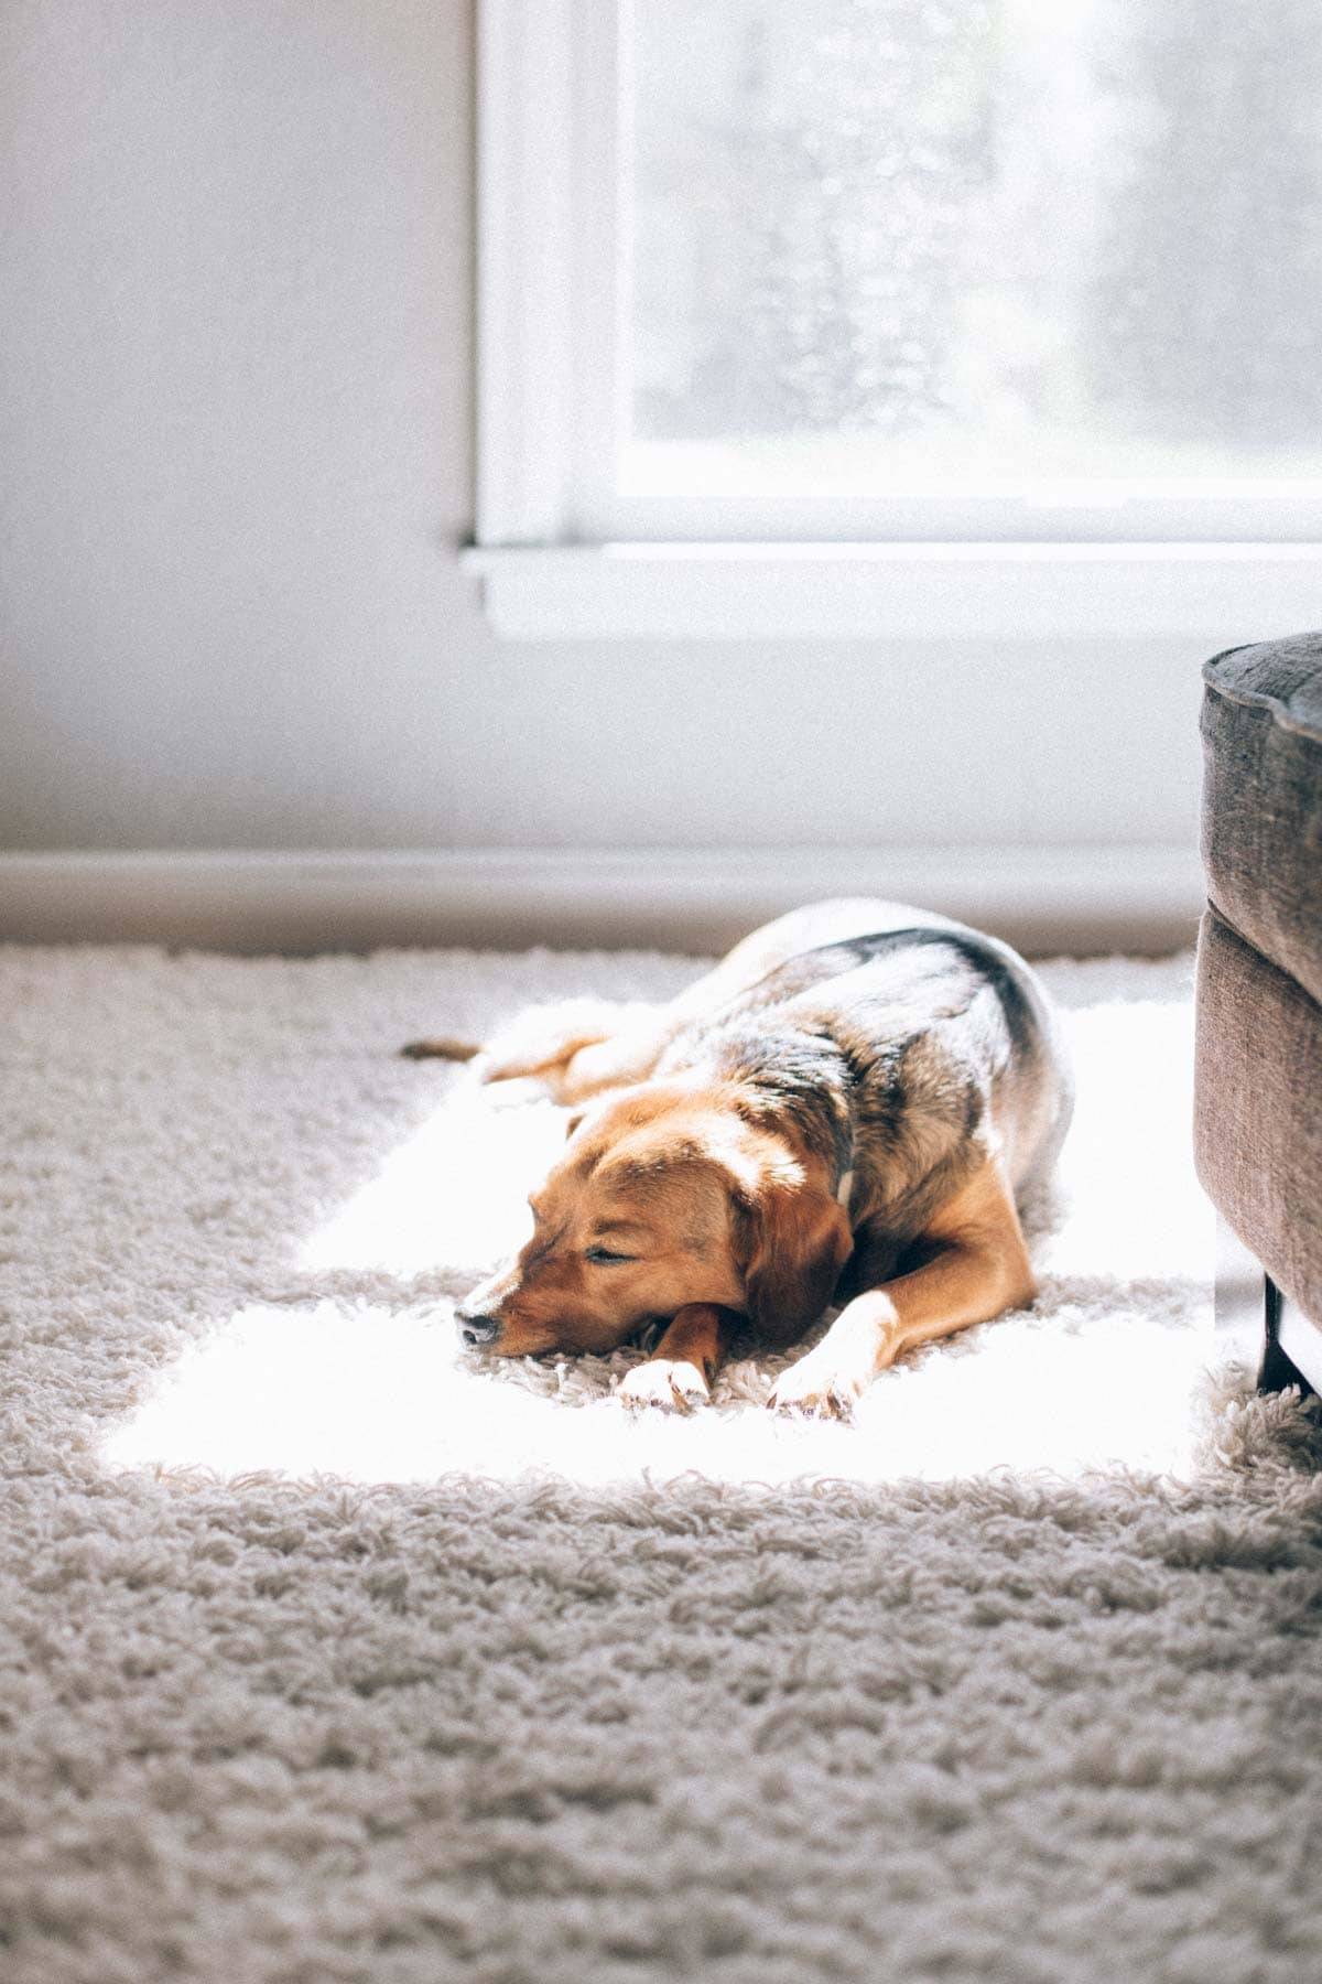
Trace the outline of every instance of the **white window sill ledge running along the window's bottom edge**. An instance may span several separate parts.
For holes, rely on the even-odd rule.
[[[1322,544],[472,546],[507,641],[1187,637],[1322,621]]]

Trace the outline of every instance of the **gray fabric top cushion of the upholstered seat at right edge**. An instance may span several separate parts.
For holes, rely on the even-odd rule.
[[[1215,655],[1203,682],[1207,895],[1322,1000],[1322,633]]]

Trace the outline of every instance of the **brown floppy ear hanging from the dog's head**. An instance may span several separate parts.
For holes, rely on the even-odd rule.
[[[737,1198],[743,1305],[773,1343],[793,1343],[823,1313],[854,1250],[848,1214],[826,1192],[781,1182]]]

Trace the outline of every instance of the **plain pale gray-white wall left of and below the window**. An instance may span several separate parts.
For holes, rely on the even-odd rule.
[[[0,12],[0,847],[1187,843],[1201,643],[488,635],[470,12]]]

